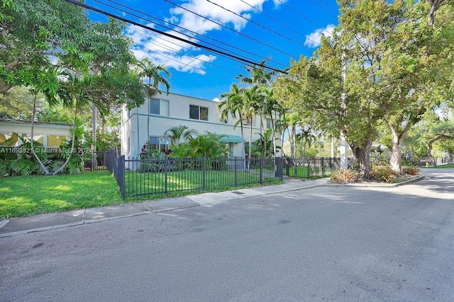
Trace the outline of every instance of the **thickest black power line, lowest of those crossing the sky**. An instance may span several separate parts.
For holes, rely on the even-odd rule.
[[[235,58],[235,59],[239,59],[239,60],[242,61],[242,62],[245,62],[245,63],[248,63],[248,64],[252,64],[252,65],[258,65],[257,62],[253,62],[253,61],[250,61],[250,60],[248,60],[248,59],[243,59],[243,58],[237,57],[237,56],[235,56],[235,55],[233,55],[233,54],[228,54],[228,53],[226,53],[226,52],[221,52],[220,50],[215,50],[214,48],[207,47],[207,46],[205,46],[205,45],[201,45],[201,44],[199,44],[199,43],[192,42],[192,41],[190,41],[190,40],[185,40],[185,39],[183,39],[182,37],[177,37],[177,36],[175,36],[175,35],[171,35],[170,33],[165,33],[165,32],[163,32],[162,30],[157,30],[157,29],[155,29],[155,28],[150,28],[149,26],[142,25],[142,24],[140,24],[140,23],[137,23],[137,22],[135,22],[135,21],[128,20],[128,19],[123,18],[123,17],[120,17],[120,16],[116,16],[116,15],[114,15],[113,13],[109,13],[109,12],[107,12],[107,11],[103,11],[103,10],[101,10],[101,9],[99,9],[99,8],[94,7],[94,6],[90,6],[90,5],[84,4],[84,3],[82,3],[82,2],[79,2],[78,0],[64,0],[64,1],[66,1],[66,2],[68,2],[68,3],[70,3],[70,4],[74,4],[74,5],[76,5],[76,6],[81,6],[81,7],[83,7],[83,8],[87,8],[87,9],[90,10],[90,11],[96,11],[97,13],[102,13],[103,15],[106,15],[106,16],[109,16],[109,17],[112,17],[112,18],[115,18],[115,19],[117,19],[117,20],[120,20],[120,21],[123,21],[123,22],[126,22],[126,23],[131,23],[131,24],[133,24],[133,25],[140,26],[141,28],[146,28],[146,29],[151,30],[151,31],[153,31],[153,32],[155,32],[155,33],[160,33],[161,35],[165,35],[165,36],[167,36],[167,37],[172,37],[172,38],[175,39],[175,40],[179,40],[179,41],[182,41],[182,42],[186,42],[187,44],[194,45],[194,46],[199,47],[199,48],[202,48],[202,49],[204,49],[204,50],[209,50],[209,51],[215,52],[215,53],[217,53],[217,54],[225,54],[225,55],[228,56],[228,57],[232,57],[232,58]],[[282,73],[282,74],[287,74],[286,71],[283,71],[283,70],[281,70],[281,69],[276,69],[276,68],[274,68],[274,67],[272,67],[272,66],[265,66],[265,68],[270,69],[270,70],[272,70],[272,71],[277,71],[277,72]]]

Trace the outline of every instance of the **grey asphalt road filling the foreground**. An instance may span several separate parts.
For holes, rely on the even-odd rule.
[[[0,301],[454,301],[439,171],[0,238]]]

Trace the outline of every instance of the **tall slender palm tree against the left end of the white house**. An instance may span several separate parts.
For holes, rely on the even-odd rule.
[[[150,99],[160,94],[160,85],[164,85],[167,91],[167,95],[170,91],[170,83],[161,75],[163,72],[170,78],[170,72],[163,65],[155,65],[148,58],[143,59],[138,63],[140,68],[139,76],[141,78],[148,79],[148,83],[145,84],[146,93],[148,95],[148,113],[147,113],[147,140],[150,139]]]

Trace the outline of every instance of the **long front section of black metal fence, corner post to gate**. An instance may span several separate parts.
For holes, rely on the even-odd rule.
[[[282,173],[276,173],[279,160],[281,159],[128,158],[125,160],[126,196],[200,192],[282,180]]]

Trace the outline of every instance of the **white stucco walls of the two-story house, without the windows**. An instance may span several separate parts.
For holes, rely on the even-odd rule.
[[[214,132],[216,134],[236,135],[241,137],[240,126],[234,127],[238,119],[228,117],[228,122],[225,124],[219,119],[219,112],[217,110],[218,103],[212,100],[204,100],[201,98],[192,98],[187,95],[179,95],[170,93],[166,95],[157,95],[155,98],[160,100],[167,100],[169,102],[169,116],[164,115],[148,115],[148,101],[140,108],[135,108],[128,112],[123,108],[121,112],[121,154],[128,157],[138,156],[140,150],[148,140],[147,137],[147,119],[150,117],[150,136],[162,137],[164,133],[175,126],[180,124],[189,127],[189,129],[196,129],[199,133],[206,131]],[[193,120],[189,118],[189,105],[196,105],[208,108],[208,120]],[[260,119],[256,117],[255,124],[253,124],[253,141],[258,139],[260,133]],[[244,139],[248,142],[249,127],[244,128]],[[233,144],[233,156],[243,156],[242,144]]]

